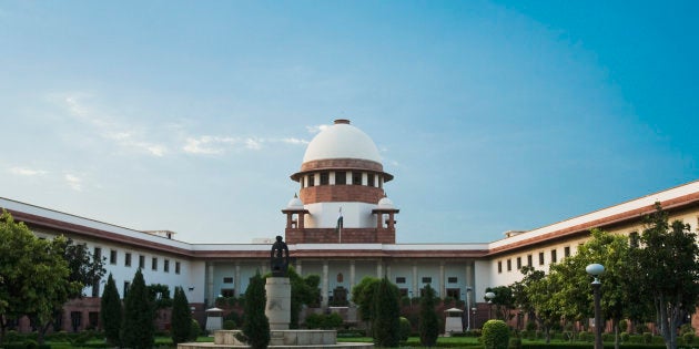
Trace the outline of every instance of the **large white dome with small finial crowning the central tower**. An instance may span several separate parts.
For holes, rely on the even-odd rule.
[[[308,143],[303,162],[326,158],[361,158],[381,164],[374,141],[347,120],[336,120],[334,125],[318,133]]]

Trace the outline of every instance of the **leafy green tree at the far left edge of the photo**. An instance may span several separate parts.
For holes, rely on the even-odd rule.
[[[7,321],[27,315],[39,328],[39,342],[69,296],[81,285],[69,280],[63,258],[67,239],[39,239],[23,223],[0,215],[0,342]]]

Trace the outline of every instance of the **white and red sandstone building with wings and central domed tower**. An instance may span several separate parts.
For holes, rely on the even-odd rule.
[[[517,281],[525,265],[547,270],[574,255],[591,228],[641,232],[641,217],[656,202],[670,219],[690,224],[693,232],[699,225],[696,181],[534,230],[507,232],[492,243],[396,244],[399,209],[384,192],[394,176],[384,171],[372,138],[347,120],[314,137],[291,179],[300,188],[281,212],[285,242],[298,274],[321,276],[322,308],[351,306],[352,287],[363,277],[385,276],[404,296],[418,297],[429,284],[439,297],[480,309],[487,287]],[[200,319],[216,298],[240,296],[256,271],[270,269],[272,237],[255,244],[189,244],[172,232],[133,230],[8,198],[0,198],[0,207],[40,237],[63,234],[105,257],[122,297],[136,268],[146,284],[183,287]],[[83,299],[67,307],[64,329],[99,325],[103,283],[89,286]]]

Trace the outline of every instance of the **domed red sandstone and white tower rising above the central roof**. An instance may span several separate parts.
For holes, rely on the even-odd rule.
[[[287,244],[395,244],[398,213],[384,192],[384,172],[374,141],[348,120],[318,133],[308,144],[298,197],[288,202]]]

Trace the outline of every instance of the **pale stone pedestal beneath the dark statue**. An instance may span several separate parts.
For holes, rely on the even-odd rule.
[[[270,330],[287,330],[291,322],[291,284],[288,277],[269,277],[265,285],[267,306],[264,315]]]

